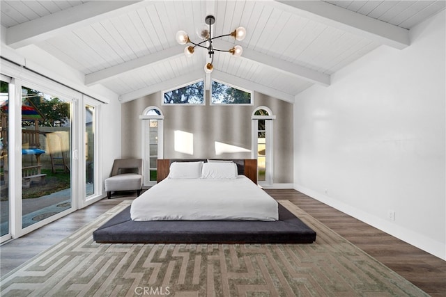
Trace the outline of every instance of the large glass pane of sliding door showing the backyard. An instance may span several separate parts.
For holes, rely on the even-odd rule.
[[[71,103],[22,86],[22,228],[72,207]]]

